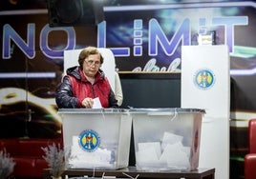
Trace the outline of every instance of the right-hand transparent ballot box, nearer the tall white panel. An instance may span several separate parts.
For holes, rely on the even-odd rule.
[[[138,170],[199,166],[203,109],[130,109]]]

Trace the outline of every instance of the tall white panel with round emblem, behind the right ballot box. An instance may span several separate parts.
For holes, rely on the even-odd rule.
[[[215,168],[229,178],[230,62],[227,46],[181,47],[181,108],[205,109],[200,168]],[[201,86],[200,72],[208,74]],[[209,73],[207,73],[207,71]]]

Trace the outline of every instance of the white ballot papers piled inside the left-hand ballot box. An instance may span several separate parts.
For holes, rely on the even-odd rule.
[[[78,136],[73,136],[73,145],[69,159],[71,169],[111,169],[115,166],[115,158],[111,150],[96,149],[85,151],[81,149]]]

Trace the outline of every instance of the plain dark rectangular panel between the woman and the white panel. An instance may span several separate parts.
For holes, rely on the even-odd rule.
[[[180,73],[119,73],[121,108],[180,108]]]

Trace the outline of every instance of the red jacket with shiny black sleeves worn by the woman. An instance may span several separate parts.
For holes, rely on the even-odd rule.
[[[56,90],[56,104],[59,109],[77,109],[82,107],[86,97],[98,97],[102,108],[117,108],[117,99],[104,72],[96,73],[96,81],[91,84],[79,67],[67,70],[62,83]]]

